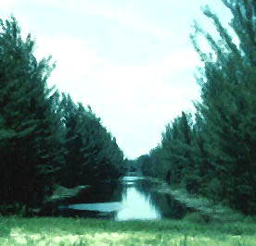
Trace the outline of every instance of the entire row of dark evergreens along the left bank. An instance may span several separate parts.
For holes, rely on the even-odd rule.
[[[17,20],[0,19],[0,208],[32,207],[66,188],[120,178],[122,150],[91,107],[47,87],[55,64],[38,61]],[[1,209],[0,209],[1,212]]]

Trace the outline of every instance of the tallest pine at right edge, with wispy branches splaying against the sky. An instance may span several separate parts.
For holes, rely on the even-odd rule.
[[[217,178],[221,183],[219,198],[225,196],[232,206],[253,214],[256,213],[253,190],[256,185],[256,5],[251,0],[223,2],[233,14],[230,26],[237,34],[239,46],[219,18],[209,7],[205,8],[204,14],[213,20],[220,41],[196,25],[192,42],[204,62],[204,74],[198,79],[202,103],[196,106],[205,121],[206,129],[201,136],[215,176],[209,177],[209,191],[216,191],[216,187],[211,187],[216,182],[211,179]],[[199,49],[198,33],[211,44],[215,58]]]

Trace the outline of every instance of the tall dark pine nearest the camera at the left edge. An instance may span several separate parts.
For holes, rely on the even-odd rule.
[[[0,169],[1,203],[32,207],[34,196],[42,202],[46,179],[54,172],[51,137],[53,112],[46,80],[50,58],[37,62],[34,42],[21,39],[15,18],[0,33]],[[52,179],[52,178],[50,178]],[[36,199],[38,200],[38,199]],[[28,213],[28,209],[26,211]]]

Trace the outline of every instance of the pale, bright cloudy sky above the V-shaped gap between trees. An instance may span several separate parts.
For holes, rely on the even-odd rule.
[[[90,105],[116,137],[124,155],[147,154],[182,111],[194,112],[201,66],[189,39],[193,20],[214,31],[201,6],[231,17],[221,0],[0,0],[38,59],[57,67],[48,85]]]

